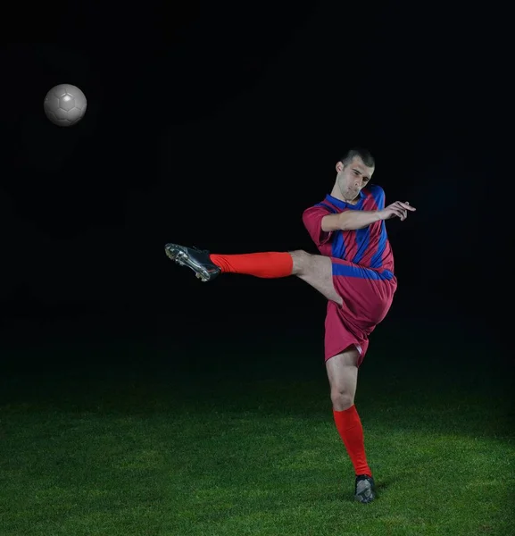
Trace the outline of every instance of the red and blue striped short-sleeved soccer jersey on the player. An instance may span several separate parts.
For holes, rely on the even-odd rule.
[[[378,272],[379,279],[388,280],[394,278],[394,254],[383,220],[371,223],[365,229],[329,232],[321,229],[322,218],[327,214],[340,214],[347,210],[373,211],[383,208],[385,208],[385,190],[374,184],[361,190],[360,200],[356,205],[350,205],[327,195],[323,201],[303,212],[303,223],[321,255],[369,268]]]

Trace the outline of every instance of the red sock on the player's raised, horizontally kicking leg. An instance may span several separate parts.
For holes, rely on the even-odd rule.
[[[246,253],[245,255],[210,255],[222,272],[246,273],[273,279],[292,274],[294,259],[289,253]]]

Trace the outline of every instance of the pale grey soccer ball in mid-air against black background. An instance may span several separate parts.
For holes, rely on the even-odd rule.
[[[86,96],[76,86],[60,84],[46,94],[46,117],[58,127],[71,127],[78,123],[86,113]]]

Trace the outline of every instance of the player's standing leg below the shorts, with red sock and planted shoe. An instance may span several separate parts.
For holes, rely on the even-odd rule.
[[[326,361],[336,430],[344,442],[356,474],[354,498],[369,503],[375,498],[374,479],[365,455],[363,427],[354,406],[358,382],[358,350],[352,346]]]

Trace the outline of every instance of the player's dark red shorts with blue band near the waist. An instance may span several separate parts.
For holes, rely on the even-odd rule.
[[[331,258],[333,284],[344,303],[328,302],[326,316],[326,361],[346,348],[360,352],[358,367],[369,348],[369,335],[388,313],[397,289],[392,272],[363,268],[349,261]]]

